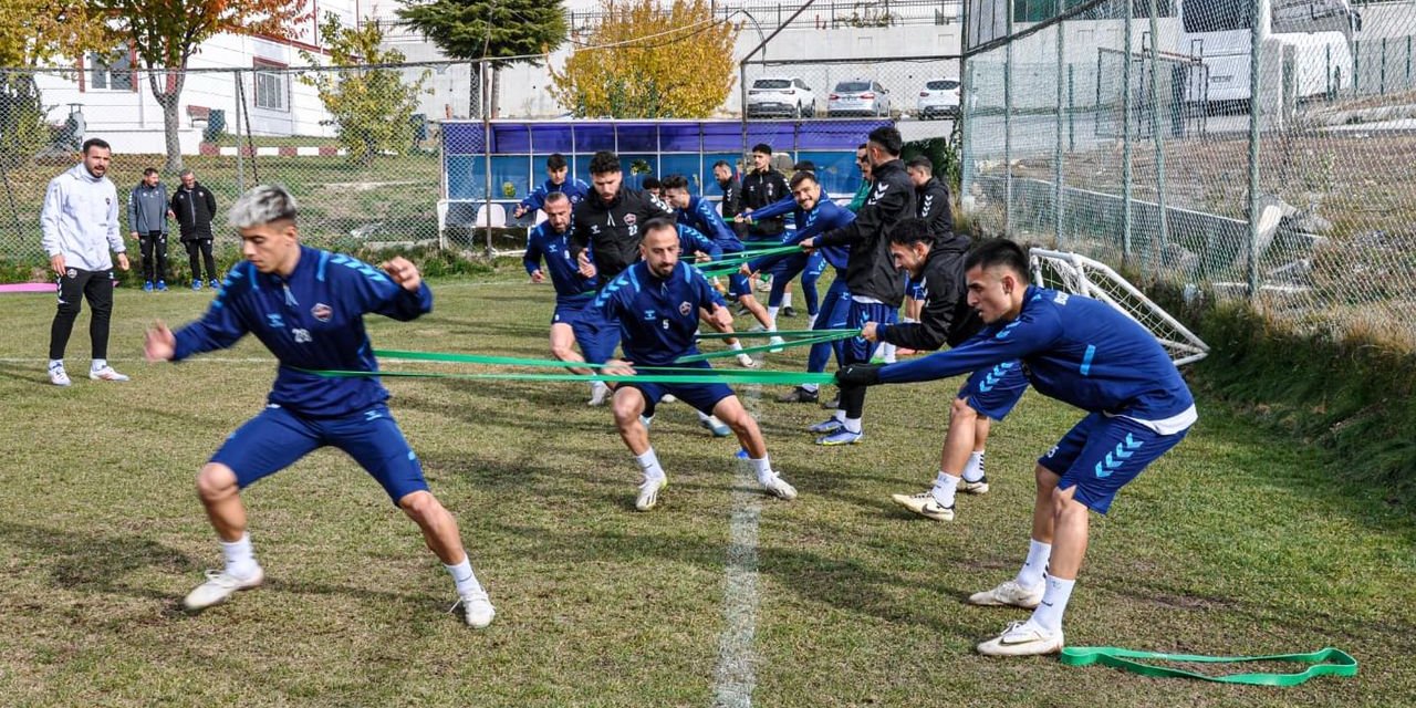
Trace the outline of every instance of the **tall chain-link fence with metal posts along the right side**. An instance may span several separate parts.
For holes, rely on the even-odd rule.
[[[976,224],[1416,344],[1416,3],[1018,6],[966,23]]]

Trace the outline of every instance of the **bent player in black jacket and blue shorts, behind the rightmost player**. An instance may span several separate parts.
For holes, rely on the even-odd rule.
[[[925,219],[905,219],[891,232],[889,251],[896,268],[925,289],[920,319],[902,324],[869,323],[862,337],[932,351],[944,344],[957,347],[983,329],[983,320],[969,304],[964,282],[969,236],[953,232],[940,236]],[[988,477],[983,457],[990,421],[1003,421],[1027,389],[1028,379],[1017,361],[974,371],[950,409],[935,487],[920,494],[895,494],[895,503],[935,521],[953,521],[956,491],[986,494]]]

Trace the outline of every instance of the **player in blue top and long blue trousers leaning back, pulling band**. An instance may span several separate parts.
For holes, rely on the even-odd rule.
[[[843,228],[855,221],[855,214],[851,214],[844,207],[828,198],[823,198],[821,184],[817,183],[814,174],[809,171],[793,174],[790,187],[797,205],[796,211],[792,214],[792,218],[796,222],[796,231],[786,232],[783,236],[783,245],[800,244],[801,241],[814,238],[826,231]],[[818,256],[823,262],[835,268],[835,280],[831,282],[831,287],[827,287],[826,300],[821,303],[821,314],[811,320],[811,329],[844,329],[850,313],[847,303],[851,299],[851,293],[845,289],[845,268],[850,262],[850,249],[845,246],[827,246],[817,249],[813,256]],[[777,255],[755,258],[742,265],[742,273],[746,275],[750,272],[760,272],[772,268],[773,262],[787,258],[800,256]],[[831,358],[833,350],[840,361],[843,355],[840,343],[813,344],[810,354],[807,354],[806,370],[810,372],[826,371],[826,362]],[[783,404],[810,404],[816,402],[817,398],[817,385],[803,384],[779,396],[777,401]]]

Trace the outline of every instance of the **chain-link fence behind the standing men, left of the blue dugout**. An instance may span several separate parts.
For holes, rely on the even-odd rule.
[[[466,62],[181,75],[126,65],[0,69],[0,259],[42,263],[45,184],[74,167],[89,137],[112,146],[108,176],[125,235],[126,201],[143,170],[157,169],[171,195],[181,188],[180,159],[217,200],[218,251],[236,242],[227,207],[259,183],[282,183],[300,200],[300,234],[313,245],[436,242],[443,170],[435,119],[476,110],[466,82],[440,78],[467,71]],[[169,115],[154,86],[166,92],[178,82]],[[169,133],[178,146],[171,156]],[[187,259],[176,219],[169,225],[180,280]]]

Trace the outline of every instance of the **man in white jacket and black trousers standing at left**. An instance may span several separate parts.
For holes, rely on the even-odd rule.
[[[96,137],[84,142],[84,161],[50,180],[40,211],[44,252],[59,279],[59,312],[50,327],[50,382],[69,385],[64,371],[64,348],[74,331],[84,299],[93,309],[89,338],[93,362],[89,378],[127,381],[108,365],[108,321],[113,313],[113,261],[127,270],[127,253],[118,228],[118,188],[106,177],[112,160],[108,143]]]

